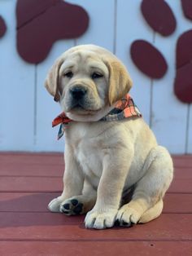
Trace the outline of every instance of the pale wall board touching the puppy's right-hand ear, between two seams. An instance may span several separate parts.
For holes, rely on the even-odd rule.
[[[151,115],[151,78],[146,77],[133,64],[130,57],[132,42],[143,39],[152,42],[153,31],[142,17],[141,0],[117,0],[116,15],[116,55],[123,61],[133,79],[133,96],[137,107],[147,123]]]

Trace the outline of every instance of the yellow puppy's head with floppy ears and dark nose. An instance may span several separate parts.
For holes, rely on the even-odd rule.
[[[121,99],[132,86],[124,65],[99,46],[72,47],[55,61],[46,89],[68,116],[94,116]]]

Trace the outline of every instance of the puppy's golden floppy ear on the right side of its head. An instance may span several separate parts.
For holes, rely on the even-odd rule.
[[[108,100],[112,105],[129,92],[132,80],[127,69],[119,60],[107,61],[107,67],[109,69]]]

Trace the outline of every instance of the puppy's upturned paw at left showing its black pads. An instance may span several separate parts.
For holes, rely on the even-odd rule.
[[[66,215],[83,214],[83,204],[76,199],[68,199],[60,205],[59,211]]]

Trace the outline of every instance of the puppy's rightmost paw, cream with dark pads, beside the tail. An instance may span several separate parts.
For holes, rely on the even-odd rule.
[[[116,225],[121,227],[132,227],[133,224],[138,223],[140,218],[141,214],[137,210],[129,207],[129,205],[123,205],[116,215]]]

